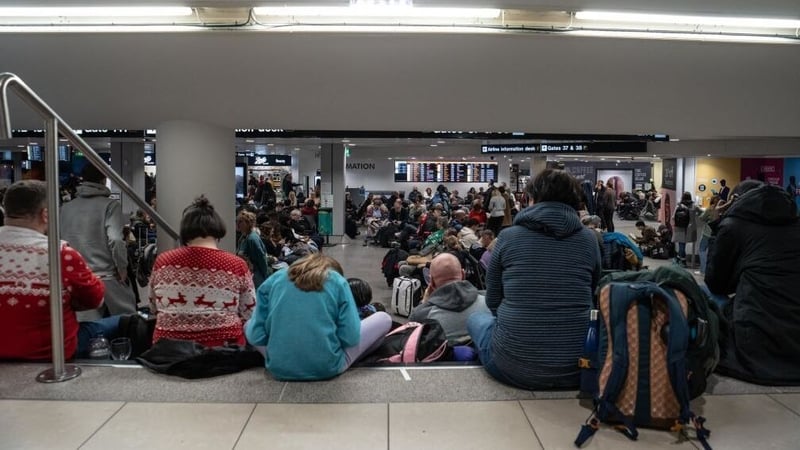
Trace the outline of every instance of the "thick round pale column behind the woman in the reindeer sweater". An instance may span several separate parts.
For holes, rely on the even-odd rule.
[[[227,234],[219,247],[236,248],[236,154],[234,130],[206,123],[169,121],[158,126],[158,213],[180,232],[183,210],[204,194],[225,221]],[[158,234],[159,251],[173,247]]]

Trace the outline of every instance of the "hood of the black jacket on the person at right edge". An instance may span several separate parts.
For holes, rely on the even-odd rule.
[[[780,186],[761,186],[738,197],[725,217],[735,217],[764,225],[797,222],[797,204]]]

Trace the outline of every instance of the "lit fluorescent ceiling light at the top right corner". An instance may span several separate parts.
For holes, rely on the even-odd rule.
[[[673,14],[639,14],[611,11],[579,11],[578,20],[606,22],[660,23],[671,25],[713,25],[743,28],[800,28],[797,19],[766,19],[756,17],[684,16]]]

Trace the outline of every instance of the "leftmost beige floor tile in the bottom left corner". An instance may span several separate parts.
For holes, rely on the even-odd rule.
[[[78,448],[122,402],[0,400],[0,448]]]

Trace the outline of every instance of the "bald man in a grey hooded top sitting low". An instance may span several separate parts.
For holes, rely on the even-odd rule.
[[[433,258],[430,275],[431,281],[422,303],[414,308],[408,319],[435,319],[444,328],[451,344],[468,343],[467,318],[473,312],[489,312],[483,295],[464,279],[461,262],[451,253]]]

